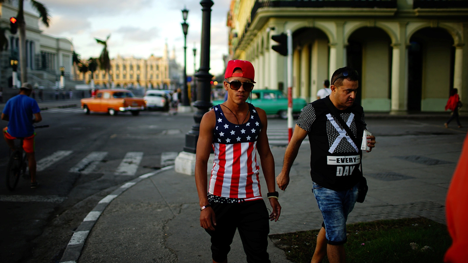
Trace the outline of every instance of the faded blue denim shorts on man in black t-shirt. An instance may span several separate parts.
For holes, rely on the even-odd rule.
[[[358,184],[350,190],[334,191],[314,183],[312,191],[322,212],[328,243],[330,245],[346,243],[346,220],[358,199]]]

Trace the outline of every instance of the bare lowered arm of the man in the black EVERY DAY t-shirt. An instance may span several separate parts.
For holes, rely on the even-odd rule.
[[[283,161],[283,168],[281,169],[281,173],[276,178],[278,187],[281,190],[286,190],[286,187],[289,184],[289,172],[291,171],[292,163],[296,159],[297,153],[299,152],[299,147],[308,133],[308,131],[303,130],[296,124],[296,127],[294,128],[294,133],[292,133],[291,141],[289,142],[288,147],[286,148],[285,160]]]

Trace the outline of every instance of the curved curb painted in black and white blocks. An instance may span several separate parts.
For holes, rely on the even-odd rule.
[[[107,195],[106,197],[102,198],[97,205],[88,213],[88,215],[83,219],[80,226],[74,231],[73,236],[70,238],[70,241],[66,245],[65,251],[60,259],[59,263],[76,263],[81,256],[81,251],[83,250],[83,246],[86,242],[89,232],[95,225],[97,219],[101,216],[102,212],[106,209],[106,207],[110,204],[112,200],[116,197],[120,196],[125,190],[129,189],[136,183],[151,177],[153,175],[157,175],[161,172],[167,171],[174,168],[173,165],[166,166],[161,168],[157,171],[147,173],[144,175],[140,175],[137,178],[134,178],[119,188],[114,190],[112,193]]]

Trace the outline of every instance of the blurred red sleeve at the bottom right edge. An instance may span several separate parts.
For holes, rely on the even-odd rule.
[[[453,173],[446,198],[447,227],[453,243],[448,248],[445,263],[465,263],[468,258],[468,136]]]

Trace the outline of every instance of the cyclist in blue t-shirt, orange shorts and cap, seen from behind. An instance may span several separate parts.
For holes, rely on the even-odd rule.
[[[39,183],[36,180],[36,156],[34,154],[36,132],[34,132],[33,124],[42,121],[42,117],[36,100],[29,98],[31,92],[32,85],[28,82],[23,83],[20,94],[9,99],[5,104],[1,119],[8,121],[8,126],[3,129],[3,137],[10,149],[15,149],[15,139],[24,138],[23,149],[28,157],[31,188],[36,188]]]

